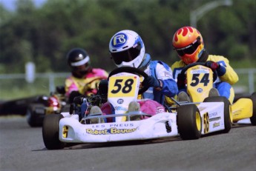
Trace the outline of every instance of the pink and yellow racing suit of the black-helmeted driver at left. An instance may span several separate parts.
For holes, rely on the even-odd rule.
[[[107,78],[108,73],[99,68],[93,68],[91,72],[87,73],[82,78],[71,75],[65,80],[65,95],[66,97],[71,98],[70,93],[72,92],[76,92],[76,95],[85,96],[96,94],[99,81]],[[74,97],[69,101],[73,101],[73,98]]]

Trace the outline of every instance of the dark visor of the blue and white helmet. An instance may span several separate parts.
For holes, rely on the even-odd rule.
[[[137,58],[140,55],[141,46],[140,44],[135,44],[134,47],[131,47],[128,50],[118,52],[118,53],[111,53],[111,57],[114,60],[115,64],[121,64],[123,61],[129,62]]]

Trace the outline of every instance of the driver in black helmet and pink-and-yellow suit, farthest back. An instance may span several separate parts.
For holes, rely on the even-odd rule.
[[[65,80],[65,92],[69,103],[79,95],[89,96],[97,93],[99,81],[108,78],[108,73],[93,68],[88,53],[82,48],[73,48],[67,55],[71,76]]]

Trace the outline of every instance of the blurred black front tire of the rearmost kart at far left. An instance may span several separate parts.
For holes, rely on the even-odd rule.
[[[44,104],[30,104],[27,107],[27,124],[30,127],[42,127],[42,123],[45,115]]]

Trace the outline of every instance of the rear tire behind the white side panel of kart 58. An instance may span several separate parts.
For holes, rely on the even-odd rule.
[[[231,104],[228,98],[223,96],[213,96],[205,98],[203,102],[223,102],[224,103],[224,124],[225,129],[221,130],[221,133],[229,133],[232,127],[232,113],[231,111]]]

